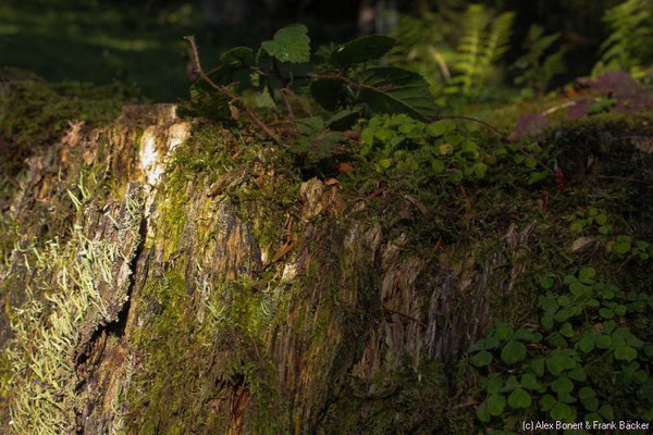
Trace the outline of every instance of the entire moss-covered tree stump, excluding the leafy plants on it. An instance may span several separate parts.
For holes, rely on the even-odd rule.
[[[653,241],[650,114],[540,136],[562,189],[528,184],[512,159],[463,183],[379,176],[364,161],[316,176],[283,146],[181,121],[174,105],[119,115],[119,96],[98,115],[97,96],[70,105],[39,82],[1,86],[3,433],[516,431],[535,400],[478,418],[488,364],[468,351],[488,328],[543,334],[529,355],[565,347],[539,296],[581,268],[653,294],[646,248],[621,243]],[[579,228],[579,211],[603,217]],[[644,306],[614,319],[650,343]],[[646,401],[605,360],[576,390],[592,385],[616,418],[643,419]]]

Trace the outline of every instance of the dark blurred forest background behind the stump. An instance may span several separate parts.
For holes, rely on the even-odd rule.
[[[368,33],[393,34],[404,17],[422,34],[454,47],[465,0],[4,0],[0,3],[0,65],[33,71],[47,80],[120,83],[152,101],[187,96],[188,59],[182,37],[195,34],[206,62],[234,46],[256,47],[275,29],[305,23],[313,47]],[[608,35],[602,17],[618,0],[485,0],[488,11],[514,11],[508,65],[523,54],[532,24],[560,33],[567,60],[563,84],[589,74]],[[434,18],[433,18],[434,17]],[[431,18],[429,21],[429,18]],[[412,26],[415,27],[415,26]]]

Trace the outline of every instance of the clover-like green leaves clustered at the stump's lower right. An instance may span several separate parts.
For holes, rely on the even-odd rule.
[[[572,422],[614,420],[615,408],[630,412],[621,419],[651,413],[653,345],[628,323],[646,315],[653,297],[620,290],[596,275],[593,268],[566,275],[566,290],[559,293],[552,291],[556,276],[544,275],[540,327],[496,325],[473,346],[473,365],[489,370],[481,384],[485,400],[477,409],[481,422],[503,420],[502,427],[518,430],[510,427],[510,415]],[[620,387],[589,375],[597,366],[613,373]]]

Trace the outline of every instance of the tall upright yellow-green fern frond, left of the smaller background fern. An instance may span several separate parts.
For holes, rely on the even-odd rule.
[[[493,64],[508,50],[515,14],[492,16],[481,4],[470,4],[463,21],[465,35],[458,45],[456,75],[449,92],[479,95],[492,73]]]

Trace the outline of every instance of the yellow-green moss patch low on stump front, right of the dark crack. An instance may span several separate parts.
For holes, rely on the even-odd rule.
[[[260,338],[270,314],[260,291],[246,282],[217,288],[200,308],[206,310],[201,322],[176,272],[152,281],[143,296],[150,300],[143,315],[159,314],[137,333],[146,361],[128,394],[131,432],[220,433],[230,413],[217,403],[229,401],[237,388],[252,397],[249,433],[281,431],[283,401]]]

